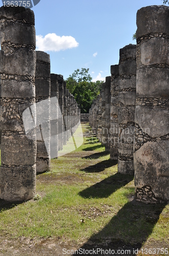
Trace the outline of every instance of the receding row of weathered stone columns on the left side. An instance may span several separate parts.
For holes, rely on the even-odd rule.
[[[30,200],[36,173],[50,170],[50,159],[58,157],[76,131],[80,110],[63,76],[50,74],[50,56],[35,51],[31,9],[1,7],[0,38],[0,198]],[[24,113],[31,118],[23,118]]]

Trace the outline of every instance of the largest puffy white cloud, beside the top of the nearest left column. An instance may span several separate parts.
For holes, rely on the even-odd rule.
[[[43,37],[42,35],[36,36],[36,50],[38,51],[53,51],[59,52],[61,50],[71,49],[78,47],[79,43],[76,42],[72,36],[58,36],[55,33],[49,33]]]

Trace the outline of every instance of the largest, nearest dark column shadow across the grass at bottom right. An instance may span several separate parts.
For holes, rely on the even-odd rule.
[[[165,205],[147,205],[135,200],[126,203],[101,231],[94,234],[87,243],[80,247],[80,250],[84,252],[84,250],[101,248],[104,251],[115,250],[114,254],[118,255],[137,255],[137,251],[133,252],[133,249],[139,250],[147,241]],[[165,248],[164,244],[163,247]],[[156,244],[154,248],[161,248],[161,245]],[[118,253],[118,250],[123,251]],[[97,255],[112,255],[112,253],[107,254],[102,251],[102,254],[98,252]]]

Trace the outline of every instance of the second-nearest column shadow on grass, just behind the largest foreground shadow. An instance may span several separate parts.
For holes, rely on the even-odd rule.
[[[116,173],[79,192],[83,198],[107,198],[133,180],[133,176]]]

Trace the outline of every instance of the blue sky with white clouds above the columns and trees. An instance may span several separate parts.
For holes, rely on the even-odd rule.
[[[110,75],[119,50],[136,44],[136,12],[161,0],[41,0],[35,13],[36,50],[50,54],[51,73],[68,78],[89,68],[93,81]]]

